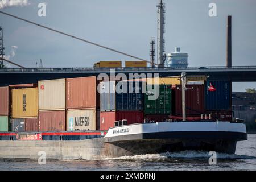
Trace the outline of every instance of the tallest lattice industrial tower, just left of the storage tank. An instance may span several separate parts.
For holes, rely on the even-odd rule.
[[[165,4],[163,0],[156,6],[158,7],[158,67],[164,67],[164,61],[166,60],[166,55],[164,54],[164,24],[165,24]]]

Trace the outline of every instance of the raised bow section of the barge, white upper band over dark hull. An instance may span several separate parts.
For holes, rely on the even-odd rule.
[[[122,132],[127,131],[128,132]],[[235,154],[237,141],[247,140],[243,123],[177,122],[122,126],[104,137],[108,155],[139,155],[184,150]]]

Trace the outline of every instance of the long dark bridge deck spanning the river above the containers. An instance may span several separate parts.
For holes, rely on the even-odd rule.
[[[159,73],[159,76],[208,75],[209,80],[256,82],[256,66],[242,67],[187,67],[187,68],[115,68],[115,73]],[[110,68],[3,68],[0,69],[0,86],[27,84],[38,80],[110,75]]]

